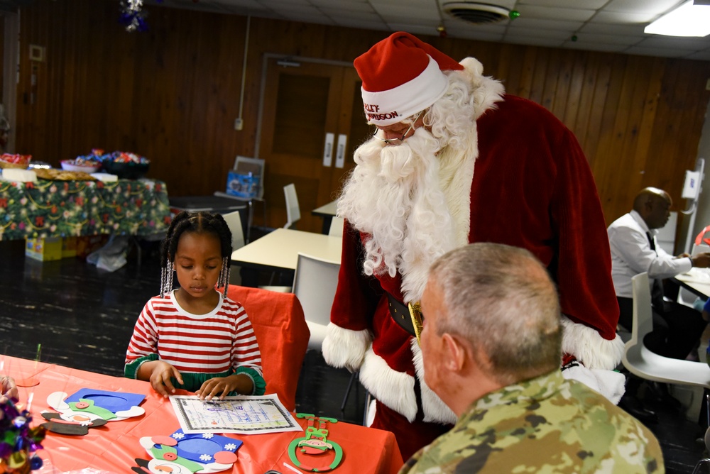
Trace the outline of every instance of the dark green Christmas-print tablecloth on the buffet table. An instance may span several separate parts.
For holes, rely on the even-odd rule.
[[[168,226],[168,188],[162,181],[0,181],[0,241],[153,236]]]

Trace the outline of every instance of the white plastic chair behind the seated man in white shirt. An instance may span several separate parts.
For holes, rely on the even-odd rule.
[[[631,279],[633,285],[633,328],[624,346],[622,363],[633,375],[655,382],[695,385],[710,389],[710,368],[701,362],[679,360],[653,353],[643,345],[643,338],[653,329],[651,290],[648,273]]]

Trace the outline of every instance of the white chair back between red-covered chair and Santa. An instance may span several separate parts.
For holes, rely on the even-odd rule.
[[[325,329],[330,323],[330,309],[335,299],[339,271],[339,262],[298,254],[293,293],[303,307],[303,314],[310,329],[308,348],[320,351]]]

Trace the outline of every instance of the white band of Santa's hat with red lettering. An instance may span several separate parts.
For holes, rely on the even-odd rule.
[[[434,104],[449,87],[449,79],[429,56],[420,75],[386,91],[362,90],[362,102],[369,123],[388,126],[399,123]]]

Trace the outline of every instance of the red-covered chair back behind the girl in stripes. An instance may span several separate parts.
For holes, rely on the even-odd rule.
[[[293,293],[229,285],[227,297],[249,315],[261,351],[266,393],[275,393],[290,412],[296,409],[296,388],[310,332]]]

